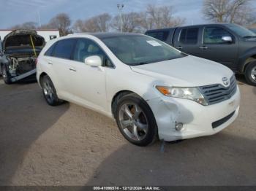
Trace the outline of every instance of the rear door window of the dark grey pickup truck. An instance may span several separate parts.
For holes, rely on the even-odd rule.
[[[181,30],[179,42],[184,44],[197,44],[199,28],[184,28]]]

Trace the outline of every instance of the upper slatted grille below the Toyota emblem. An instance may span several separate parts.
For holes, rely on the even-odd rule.
[[[206,85],[199,87],[204,98],[208,102],[208,105],[217,104],[219,102],[230,99],[236,93],[236,77],[233,75],[230,78],[230,85],[225,87],[224,85]]]

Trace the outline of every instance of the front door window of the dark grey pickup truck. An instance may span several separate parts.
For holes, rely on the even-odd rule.
[[[224,28],[221,27],[206,27],[203,32],[203,43],[204,44],[220,44],[227,43],[223,42],[223,36],[231,36]]]

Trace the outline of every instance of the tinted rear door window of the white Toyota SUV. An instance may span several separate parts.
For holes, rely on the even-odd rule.
[[[64,39],[59,41],[58,44],[56,44],[53,56],[57,58],[70,59],[75,41],[76,39]]]

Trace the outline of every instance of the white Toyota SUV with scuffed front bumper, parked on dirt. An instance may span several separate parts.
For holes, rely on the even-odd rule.
[[[213,135],[238,116],[233,71],[141,34],[51,40],[38,57],[37,79],[51,106],[70,101],[113,117],[139,146]]]

